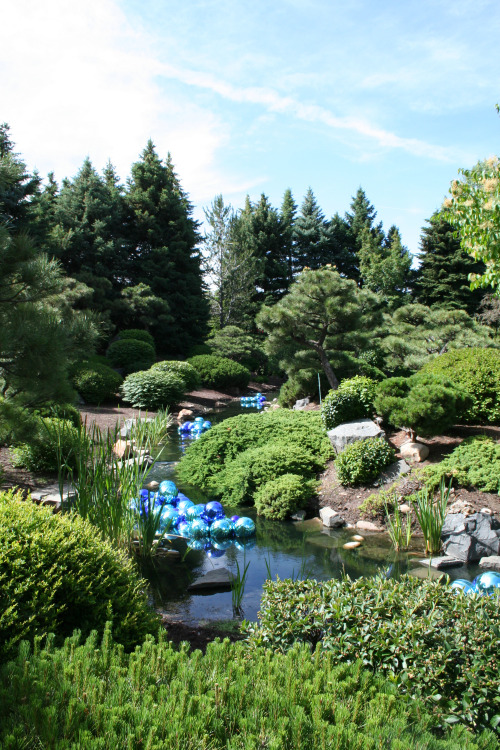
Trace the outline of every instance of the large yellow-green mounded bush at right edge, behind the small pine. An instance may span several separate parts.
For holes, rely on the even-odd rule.
[[[460,422],[500,424],[500,350],[454,349],[428,362],[423,372],[440,375],[466,391],[471,403]]]

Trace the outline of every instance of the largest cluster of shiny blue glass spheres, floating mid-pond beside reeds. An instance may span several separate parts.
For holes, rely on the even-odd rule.
[[[184,537],[190,547],[205,549],[210,557],[222,556],[233,545],[250,547],[255,543],[255,523],[251,518],[227,518],[216,500],[195,504],[170,480],[160,483],[153,499],[156,507],[162,506],[160,533],[167,531]],[[148,501],[148,490],[141,490],[141,500]]]

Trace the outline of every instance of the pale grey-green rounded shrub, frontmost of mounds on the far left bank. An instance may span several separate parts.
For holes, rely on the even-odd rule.
[[[182,400],[186,386],[174,372],[144,370],[133,372],[123,381],[121,394],[124,401],[138,409],[165,409]]]

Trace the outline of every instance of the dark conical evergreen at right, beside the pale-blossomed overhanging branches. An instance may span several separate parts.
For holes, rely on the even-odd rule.
[[[470,257],[455,236],[446,210],[436,211],[422,229],[420,267],[414,297],[423,305],[466,310],[473,315],[485,291],[471,291],[469,274],[484,273],[484,265]]]

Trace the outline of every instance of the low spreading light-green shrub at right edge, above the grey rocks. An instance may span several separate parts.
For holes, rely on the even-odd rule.
[[[430,487],[446,478],[460,487],[500,495],[500,443],[484,436],[467,438],[439,464],[427,466],[424,478]]]

